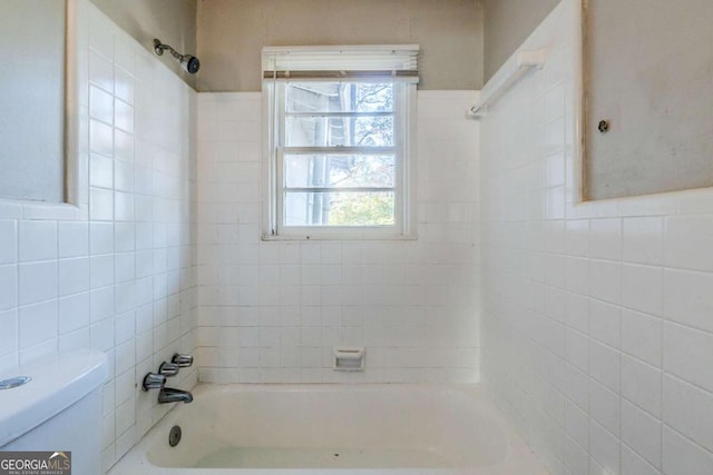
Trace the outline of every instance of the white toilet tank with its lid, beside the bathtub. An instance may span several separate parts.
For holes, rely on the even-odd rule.
[[[71,452],[71,474],[101,474],[101,386],[107,357],[79,350],[0,373],[0,452]],[[2,382],[7,384],[3,385]],[[9,382],[9,383],[8,383]]]

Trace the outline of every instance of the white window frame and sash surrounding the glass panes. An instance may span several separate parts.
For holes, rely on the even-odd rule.
[[[284,147],[286,80],[266,80],[263,83],[264,160],[263,184],[263,240],[280,239],[416,239],[416,81],[397,78],[348,78],[344,82],[393,82],[394,145],[385,149],[373,147]],[[335,78],[295,79],[295,82]],[[286,226],[284,224],[283,156],[285,151],[338,151],[341,154],[373,152],[394,154],[394,224],[390,226]]]

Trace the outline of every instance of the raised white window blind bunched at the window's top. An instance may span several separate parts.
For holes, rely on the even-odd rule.
[[[418,44],[265,47],[264,80],[419,81]]]

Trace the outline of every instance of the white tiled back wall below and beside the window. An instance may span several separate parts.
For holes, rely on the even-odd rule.
[[[201,380],[478,380],[473,99],[419,92],[418,240],[264,243],[261,95],[198,95]],[[334,373],[338,345],[365,373]]]

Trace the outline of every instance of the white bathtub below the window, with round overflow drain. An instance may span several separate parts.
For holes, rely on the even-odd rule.
[[[198,385],[109,475],[546,474],[478,388]],[[176,447],[168,433],[180,426]]]

